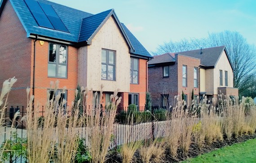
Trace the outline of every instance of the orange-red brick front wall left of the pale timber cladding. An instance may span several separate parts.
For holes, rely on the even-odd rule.
[[[75,89],[77,87],[77,48],[68,46],[66,79],[48,77],[48,42],[44,42],[43,45],[40,45],[39,41],[36,41],[35,49],[35,103],[45,105],[47,101],[47,90],[50,88],[50,82],[58,80],[60,90],[66,86],[67,106],[71,107],[71,102],[75,99]]]

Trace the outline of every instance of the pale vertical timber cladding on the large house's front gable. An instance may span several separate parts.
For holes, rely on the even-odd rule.
[[[101,79],[102,48],[115,51],[115,80]],[[128,45],[115,20],[110,17],[92,40],[92,45],[79,48],[79,83],[88,89],[129,92],[130,54]]]

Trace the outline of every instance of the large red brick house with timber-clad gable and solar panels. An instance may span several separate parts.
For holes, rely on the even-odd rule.
[[[47,0],[2,0],[0,35],[0,82],[18,79],[9,106],[26,106],[27,87],[35,103],[45,105],[50,91],[50,98],[61,93],[71,106],[77,85],[94,94],[103,90],[97,98],[103,106],[117,89],[121,107],[145,103],[152,56],[114,9],[94,15]],[[53,94],[50,82],[56,80],[60,90]]]

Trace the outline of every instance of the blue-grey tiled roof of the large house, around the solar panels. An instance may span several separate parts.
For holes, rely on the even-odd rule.
[[[0,15],[6,1],[7,0],[3,0],[0,3]],[[106,17],[111,16],[110,14],[115,15],[113,9],[94,15],[92,13],[72,9],[62,4],[50,2],[48,0],[26,0],[26,2],[38,1],[43,4],[51,5],[51,7],[57,13],[60,21],[62,21],[66,26],[68,31],[65,32],[39,26],[35,16],[31,13],[30,8],[24,0],[9,1],[17,13],[24,29],[26,30],[28,38],[35,38],[35,35],[39,35],[45,38],[58,39],[70,43],[88,41],[97,33],[102,24],[105,23],[104,20]],[[117,24],[119,24],[121,32],[123,33],[124,39],[126,39],[128,42],[130,52],[139,56],[152,57],[150,53],[141,45],[141,43],[139,43],[139,41],[129,33],[130,31],[125,29],[126,27],[124,27],[124,25],[120,25],[120,22],[116,16],[115,18],[118,22]],[[126,34],[126,32],[129,34]]]

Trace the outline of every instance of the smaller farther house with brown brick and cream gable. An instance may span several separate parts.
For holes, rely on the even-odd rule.
[[[163,99],[171,98],[166,98],[165,93],[177,95],[182,91],[190,104],[192,89],[194,99],[197,96],[202,99],[203,94],[208,99],[217,98],[220,92],[238,95],[238,89],[233,87],[234,68],[225,46],[155,56],[149,61],[148,68],[149,91],[155,105],[163,106]],[[167,69],[169,72],[165,74]]]

